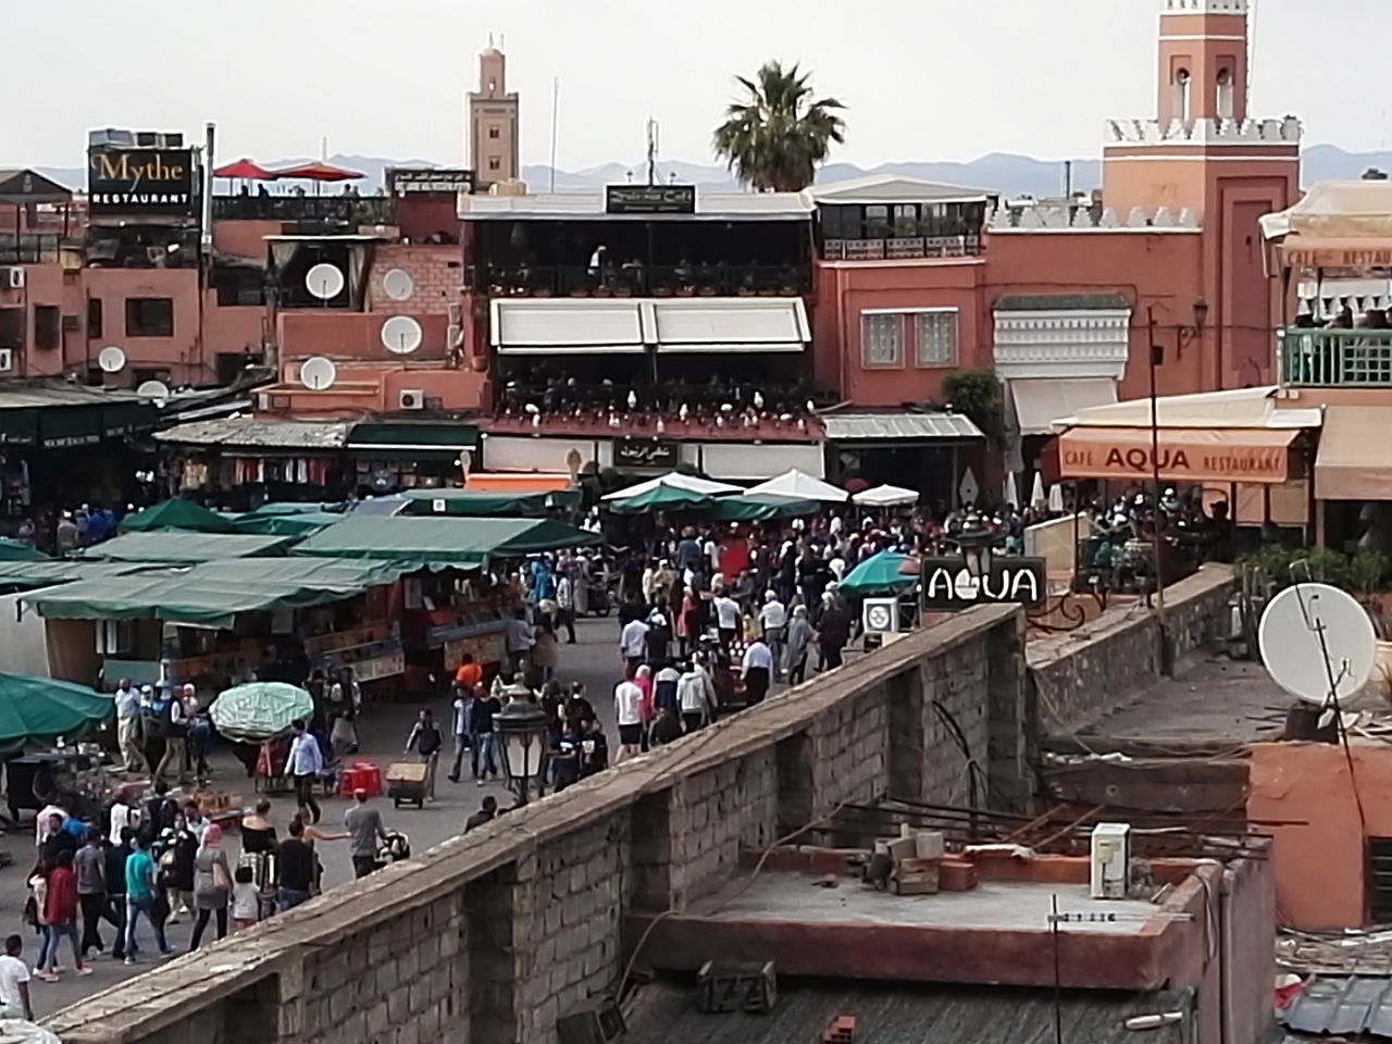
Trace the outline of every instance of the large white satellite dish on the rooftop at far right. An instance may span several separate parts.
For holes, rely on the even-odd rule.
[[[1297,583],[1276,594],[1261,614],[1257,644],[1271,681],[1320,706],[1328,703],[1331,678],[1339,700],[1356,695],[1378,656],[1367,611],[1327,583]]]

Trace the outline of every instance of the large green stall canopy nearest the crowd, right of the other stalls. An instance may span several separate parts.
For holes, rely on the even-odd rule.
[[[473,569],[491,558],[599,540],[594,533],[551,519],[355,514],[305,539],[295,554],[409,562],[418,569]]]

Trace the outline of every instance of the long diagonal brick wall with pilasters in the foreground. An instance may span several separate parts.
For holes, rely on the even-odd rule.
[[[1019,610],[970,610],[49,1025],[65,1044],[550,1044],[618,984],[624,916],[685,909],[742,848],[846,802],[1027,785],[1022,664]]]

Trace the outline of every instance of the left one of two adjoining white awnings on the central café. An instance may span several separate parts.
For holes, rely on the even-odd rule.
[[[632,298],[496,298],[491,319],[498,355],[639,354],[649,340]]]

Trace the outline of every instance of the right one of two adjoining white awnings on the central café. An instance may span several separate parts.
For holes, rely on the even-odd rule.
[[[812,340],[802,298],[658,298],[658,352],[800,352]]]

